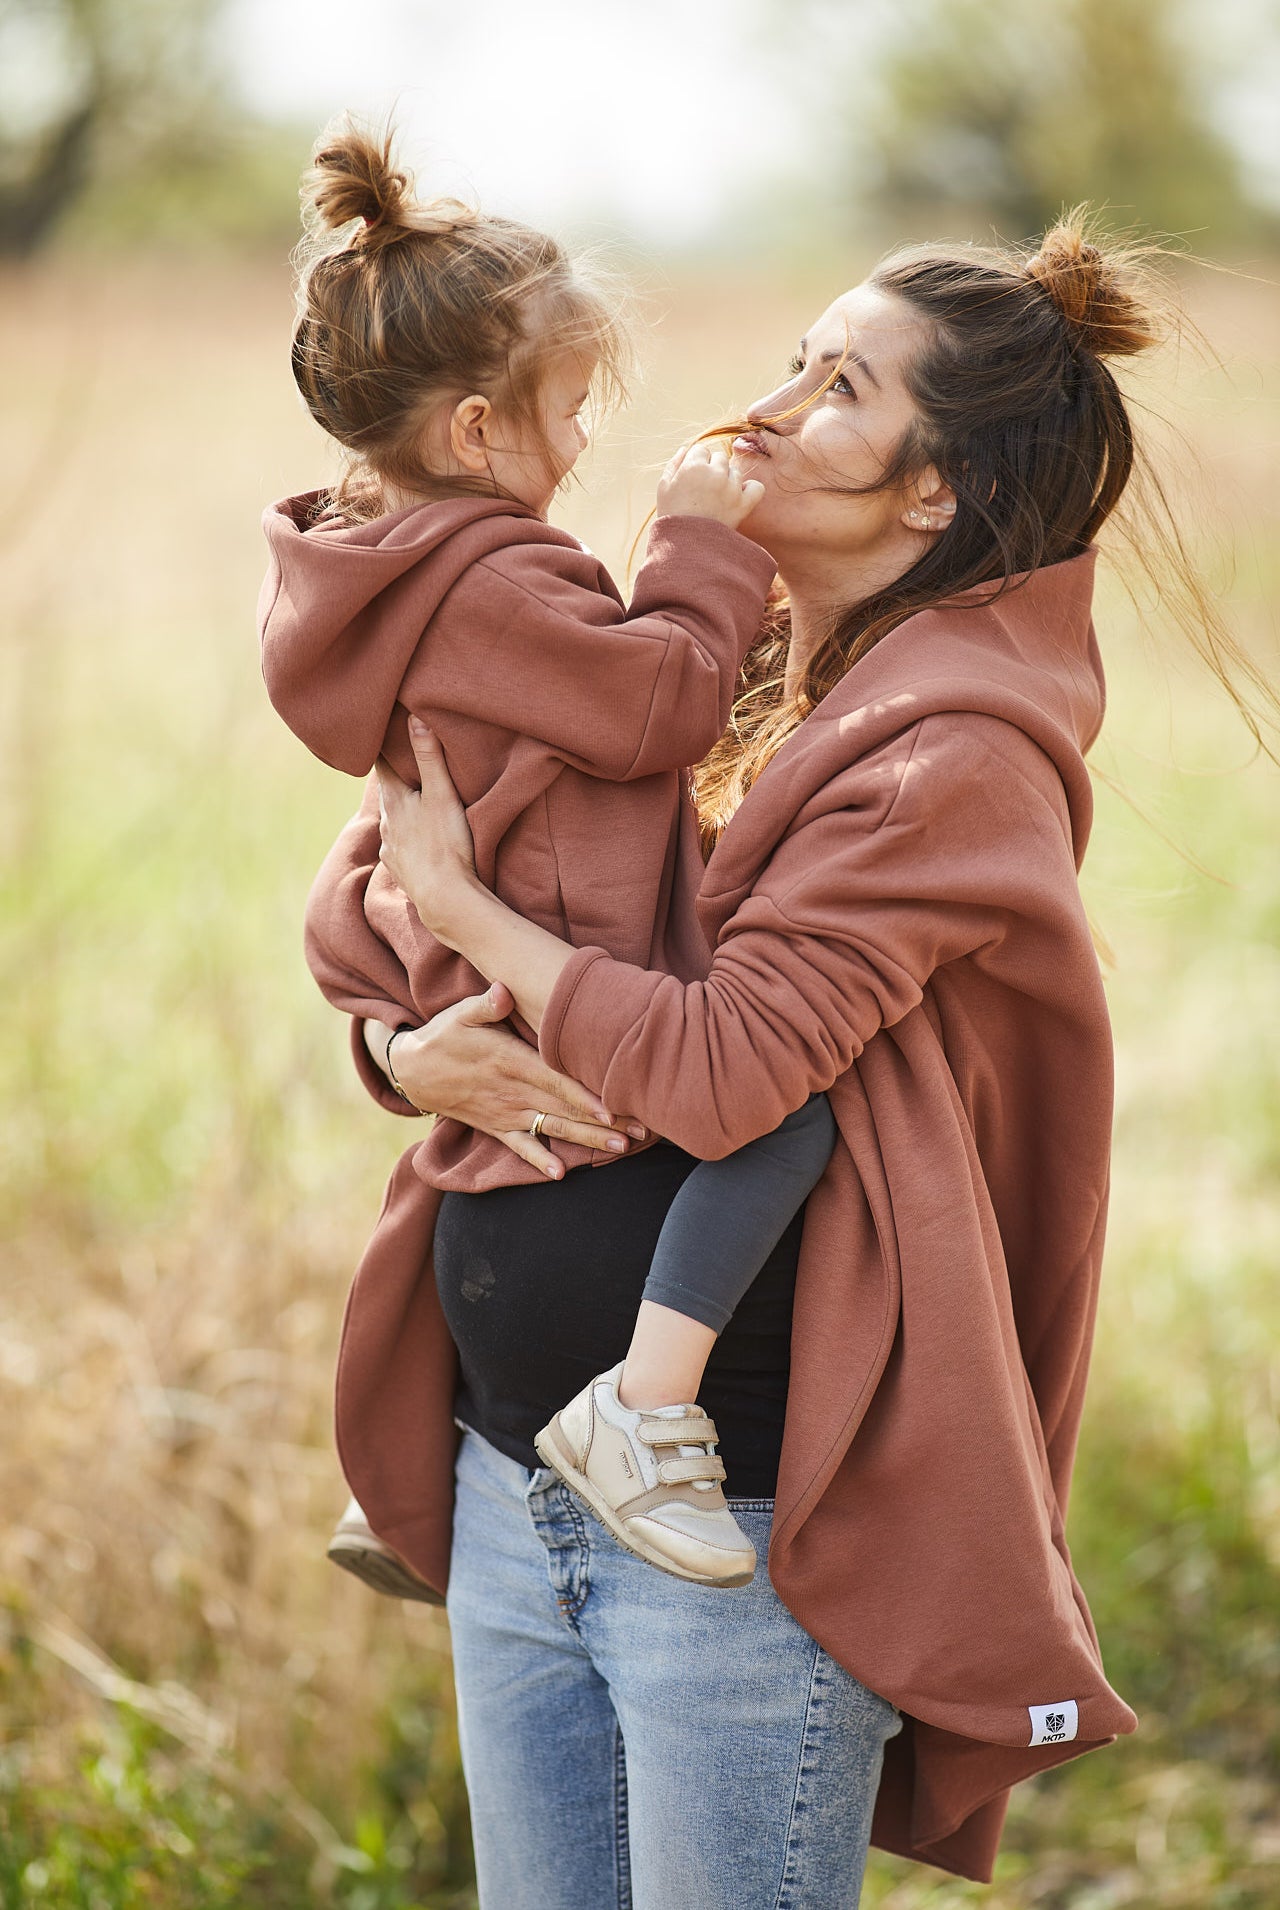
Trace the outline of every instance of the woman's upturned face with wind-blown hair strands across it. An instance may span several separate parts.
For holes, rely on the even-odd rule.
[[[881,487],[915,418],[904,365],[923,336],[925,321],[906,300],[858,285],[810,327],[785,384],[751,405],[751,430],[734,439],[734,460],[743,478],[764,485],[764,497],[743,533],[768,550],[793,588],[825,584],[837,600],[854,602],[921,554],[928,533],[911,527],[911,510],[932,499],[934,529],[942,529],[949,493],[942,495],[934,472],[919,472],[906,491]]]

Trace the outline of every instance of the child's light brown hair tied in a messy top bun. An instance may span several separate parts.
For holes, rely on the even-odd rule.
[[[424,426],[441,403],[480,393],[537,445],[543,378],[565,350],[594,367],[596,414],[625,395],[617,294],[546,233],[457,199],[418,201],[390,128],[374,138],[340,120],[321,136],[302,225],[292,369],[308,411],[348,453],[331,499],[342,516],[378,516],[388,485],[422,499],[501,495],[430,470]]]

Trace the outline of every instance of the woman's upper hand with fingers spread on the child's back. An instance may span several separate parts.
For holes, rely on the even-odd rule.
[[[378,758],[380,861],[413,902],[422,926],[445,947],[457,947],[449,930],[457,928],[460,905],[481,886],[476,846],[436,735],[411,716],[409,739],[420,789],[401,783],[392,764]]]

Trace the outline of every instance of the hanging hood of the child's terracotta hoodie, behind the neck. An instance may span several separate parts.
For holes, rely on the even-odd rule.
[[[262,674],[321,762],[367,775],[422,630],[462,571],[514,537],[575,539],[508,499],[447,499],[352,525],[317,523],[319,502],[319,491],[306,491],[264,512]]]

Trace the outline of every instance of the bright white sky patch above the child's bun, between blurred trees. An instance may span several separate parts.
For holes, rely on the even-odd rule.
[[[804,149],[757,0],[235,0],[246,97],[315,120],[395,105],[426,189],[688,243]]]

